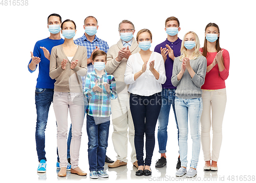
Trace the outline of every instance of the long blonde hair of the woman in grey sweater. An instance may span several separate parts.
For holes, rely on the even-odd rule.
[[[188,55],[187,55],[187,49],[184,47],[184,41],[185,41],[186,35],[187,35],[187,34],[190,34],[190,33],[194,34],[194,35],[195,35],[195,38],[196,38],[196,46],[195,46],[195,51],[194,51],[194,53],[193,53],[193,56],[195,56],[194,59],[197,59],[198,57],[202,56],[201,52],[199,51],[199,50],[200,50],[200,41],[199,41],[199,38],[198,38],[197,34],[196,34],[195,32],[189,31],[189,32],[187,32],[187,33],[184,35],[183,40],[182,40],[182,43],[181,43],[181,48],[180,48],[180,53],[181,53],[181,55],[180,55],[180,61],[181,61],[183,58],[188,57]]]

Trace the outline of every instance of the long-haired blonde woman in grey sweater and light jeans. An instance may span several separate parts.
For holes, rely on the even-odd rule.
[[[202,90],[206,75],[207,60],[201,55],[199,38],[194,32],[187,32],[181,43],[181,56],[176,57],[173,66],[172,83],[177,86],[175,110],[180,129],[179,148],[181,168],[176,176],[194,177],[200,152],[200,118],[203,110]],[[188,115],[189,114],[189,115]],[[187,167],[188,116],[190,134],[193,140],[190,169]]]

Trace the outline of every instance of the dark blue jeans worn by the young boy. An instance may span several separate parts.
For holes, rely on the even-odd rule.
[[[104,170],[110,121],[96,125],[94,118],[87,115],[88,159],[90,171],[99,171]]]

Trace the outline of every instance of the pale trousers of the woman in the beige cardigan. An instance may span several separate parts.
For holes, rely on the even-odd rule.
[[[59,166],[67,167],[67,134],[68,110],[72,123],[72,139],[70,144],[71,168],[78,167],[79,150],[82,136],[84,116],[82,93],[55,92],[53,95],[53,109],[57,121],[57,146]]]

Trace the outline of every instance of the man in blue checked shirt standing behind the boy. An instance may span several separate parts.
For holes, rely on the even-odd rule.
[[[93,53],[97,50],[102,50],[107,53],[109,50],[108,43],[96,36],[98,28],[99,26],[97,19],[94,16],[88,16],[86,17],[86,19],[84,19],[83,29],[85,33],[82,35],[82,37],[74,40],[75,44],[82,45],[87,48],[87,73],[90,73],[94,70],[92,64]],[[86,76],[82,77],[82,88],[84,88],[85,83]],[[84,101],[84,105],[87,105],[87,101]],[[86,106],[84,106],[84,108],[86,109]],[[113,162],[114,161],[112,161],[108,156],[105,157],[106,164],[110,164]]]

